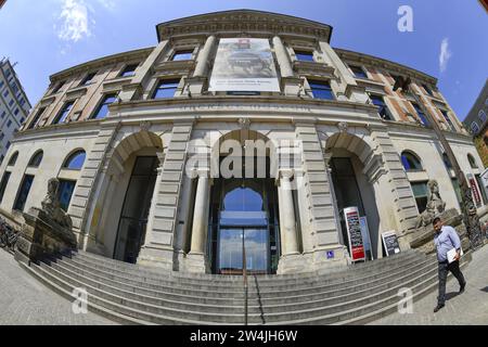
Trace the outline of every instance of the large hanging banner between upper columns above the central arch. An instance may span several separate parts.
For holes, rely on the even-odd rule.
[[[280,92],[269,40],[220,39],[208,90]]]

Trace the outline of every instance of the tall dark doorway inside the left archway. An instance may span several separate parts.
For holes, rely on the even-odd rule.
[[[137,262],[145,241],[158,165],[159,160],[155,156],[141,156],[136,159],[118,224],[114,259]]]

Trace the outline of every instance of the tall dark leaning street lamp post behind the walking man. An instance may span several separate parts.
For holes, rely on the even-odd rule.
[[[451,146],[449,145],[449,142],[447,141],[446,137],[442,133],[442,130],[440,129],[439,125],[437,124],[436,119],[431,115],[428,110],[424,106],[424,103],[422,102],[422,97],[416,94],[416,92],[411,88],[411,79],[403,77],[399,77],[395,83],[394,91],[398,89],[402,89],[403,91],[410,91],[413,98],[415,99],[416,104],[419,107],[422,108],[422,111],[425,114],[425,117],[427,117],[428,123],[434,129],[434,132],[436,133],[437,138],[439,139],[440,143],[444,146],[444,150],[446,151],[446,154],[451,162],[452,168],[455,172],[455,176],[458,178],[458,181],[460,182],[461,187],[461,211],[463,214],[463,220],[464,224],[467,230],[467,237],[470,239],[470,246],[472,249],[476,249],[480,247],[484,244],[483,240],[483,232],[479,224],[479,217],[476,213],[476,206],[473,202],[473,195],[470,188],[470,184],[467,183],[466,177],[464,176],[464,172],[461,170],[461,167],[459,166],[458,159],[454,156],[454,153],[452,152]]]

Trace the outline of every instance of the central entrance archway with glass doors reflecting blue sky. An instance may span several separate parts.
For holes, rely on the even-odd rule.
[[[253,143],[258,149],[249,151]],[[211,188],[208,235],[211,272],[242,274],[245,254],[249,273],[275,273],[280,222],[270,143],[256,131],[236,130],[218,145],[219,177]]]

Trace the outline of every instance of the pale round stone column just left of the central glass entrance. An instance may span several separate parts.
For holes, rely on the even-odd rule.
[[[188,256],[187,271],[205,273],[209,269],[206,265],[205,244],[208,230],[208,207],[210,196],[209,171],[198,172],[196,185],[195,207],[193,213],[192,243]]]

